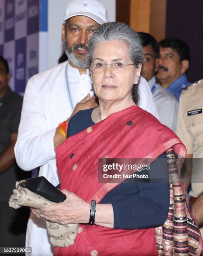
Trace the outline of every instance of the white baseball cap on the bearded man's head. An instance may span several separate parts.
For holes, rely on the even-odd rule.
[[[100,0],[70,0],[64,21],[78,15],[91,18],[100,25],[108,22],[107,9]]]

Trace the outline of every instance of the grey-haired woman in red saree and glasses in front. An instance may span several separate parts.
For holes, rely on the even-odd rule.
[[[34,210],[38,217],[59,224],[80,223],[74,245],[55,248],[55,255],[173,255],[174,250],[177,254],[197,251],[200,236],[196,225],[193,222],[190,226],[196,235],[195,243],[189,246],[190,232],[187,225],[183,227],[186,218],[191,223],[193,220],[186,210],[185,191],[178,183],[171,149],[184,157],[185,147],[173,131],[136,105],[142,55],[139,36],[123,23],[105,23],[90,38],[88,60],[99,107],[74,115],[69,121],[68,139],[56,148],[61,189],[67,199]],[[107,163],[112,158],[157,159],[165,157],[166,151],[173,165],[169,166],[170,184],[176,175],[175,192],[168,183],[98,182],[98,159]],[[154,164],[151,166],[150,172],[156,172]],[[165,167],[162,171],[168,172]],[[174,193],[180,195],[179,205]],[[176,237],[175,218],[180,218],[176,219]],[[161,225],[163,228],[155,231]],[[185,233],[187,236],[183,236]]]

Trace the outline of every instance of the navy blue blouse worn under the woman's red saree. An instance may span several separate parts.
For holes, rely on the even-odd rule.
[[[81,110],[71,118],[67,138],[94,125],[91,120],[92,111],[93,108]],[[141,175],[142,172],[139,174]],[[165,154],[159,156],[150,166],[148,174],[150,181],[148,179],[144,182],[133,182],[127,179],[101,200],[101,204],[113,206],[114,228],[152,228],[165,222],[170,198]],[[162,179],[158,179],[160,177]]]

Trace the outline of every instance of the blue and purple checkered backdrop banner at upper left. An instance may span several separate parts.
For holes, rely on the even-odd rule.
[[[46,69],[39,49],[46,56],[47,13],[48,0],[0,0],[0,55],[9,64],[11,89],[21,94],[39,67]]]

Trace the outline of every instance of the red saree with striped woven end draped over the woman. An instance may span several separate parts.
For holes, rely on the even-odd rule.
[[[56,148],[61,189],[74,192],[87,202],[100,202],[119,183],[98,183],[99,158],[152,158],[167,152],[170,209],[159,228],[120,230],[80,225],[75,243],[55,248],[55,255],[200,255],[202,240],[188,205],[178,171],[185,146],[151,114],[137,106],[68,138]]]

